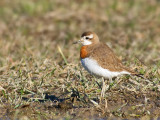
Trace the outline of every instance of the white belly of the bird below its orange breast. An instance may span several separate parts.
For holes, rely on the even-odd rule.
[[[104,78],[113,78],[118,75],[122,74],[130,74],[127,71],[121,71],[121,72],[112,72],[109,71],[108,69],[104,69],[101,66],[98,65],[98,63],[91,59],[91,58],[84,58],[81,59],[82,66],[90,73],[93,75],[101,76]]]

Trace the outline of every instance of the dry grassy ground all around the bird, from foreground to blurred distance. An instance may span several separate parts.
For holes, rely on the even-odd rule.
[[[0,1],[0,118],[158,118],[159,0]],[[108,84],[83,70],[82,32],[95,31],[146,79]]]

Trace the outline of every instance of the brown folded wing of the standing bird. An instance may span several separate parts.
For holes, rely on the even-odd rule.
[[[99,43],[95,48],[92,49],[90,57],[94,57],[98,64],[110,71],[128,71],[133,73],[129,68],[123,66],[121,60],[116,57],[114,52],[106,45]]]

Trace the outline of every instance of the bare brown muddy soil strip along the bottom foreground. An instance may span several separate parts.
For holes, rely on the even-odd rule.
[[[0,118],[38,119],[39,116],[41,119],[112,119],[119,117],[130,119],[160,116],[160,97],[157,92],[148,91],[142,94],[141,92],[112,89],[106,94],[108,96],[101,102],[97,98],[89,99],[87,96],[79,98],[72,94],[69,98],[57,98],[47,94],[44,100],[20,105],[16,109],[6,103],[6,106],[0,110]],[[97,104],[93,104],[93,101]]]

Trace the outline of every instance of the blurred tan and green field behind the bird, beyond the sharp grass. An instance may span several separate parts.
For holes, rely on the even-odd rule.
[[[94,31],[117,55],[153,65],[160,57],[159,0],[1,0],[0,66],[34,57],[79,60],[84,31]]]

